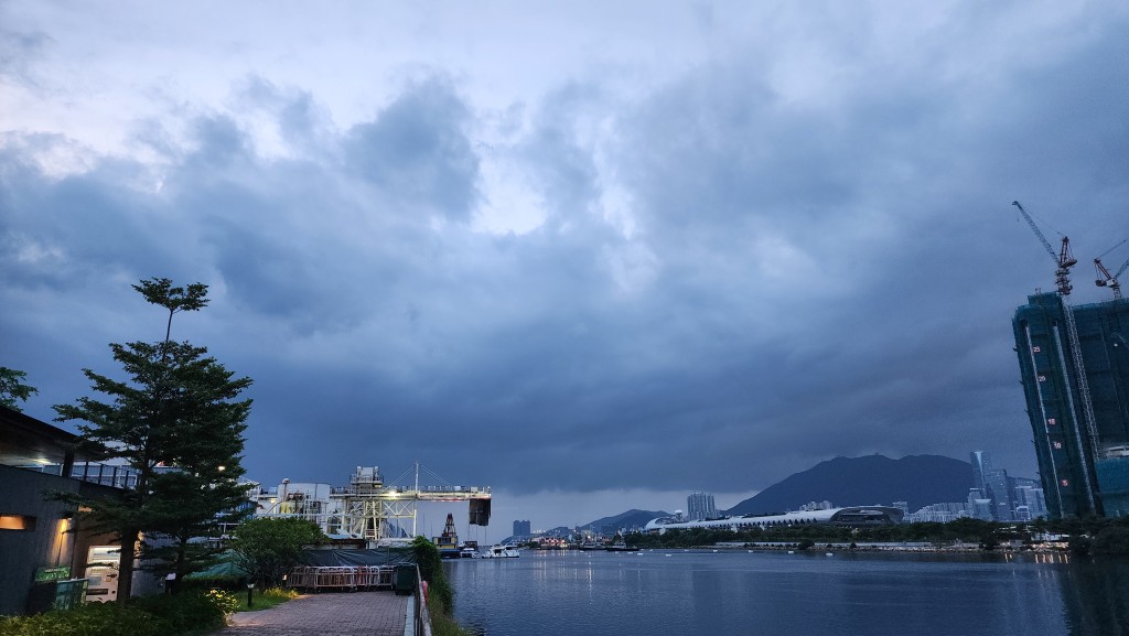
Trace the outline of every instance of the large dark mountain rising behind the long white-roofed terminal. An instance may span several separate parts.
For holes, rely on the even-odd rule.
[[[835,458],[797,472],[729,508],[729,515],[798,509],[808,502],[835,506],[907,502],[910,512],[929,504],[964,502],[972,464],[940,455]]]

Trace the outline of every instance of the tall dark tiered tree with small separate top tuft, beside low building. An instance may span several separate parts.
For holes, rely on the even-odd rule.
[[[173,315],[207,306],[208,287],[173,287],[167,278],[154,278],[133,288],[168,312],[164,341],[111,343],[131,380],[82,369],[93,389],[112,401],[80,398],[54,407],[60,421],[87,422],[78,428],[98,459],[123,460],[137,473],[122,497],[80,502],[95,528],[121,539],[117,598],[123,600],[130,596],[142,535],[173,540],[173,550],[148,546],[142,552],[168,557],[180,581],[202,556],[189,539],[215,534],[245,499],[237,480],[251,409],[251,400],[236,401],[250,378],[233,380],[205,348],[172,340]]]

